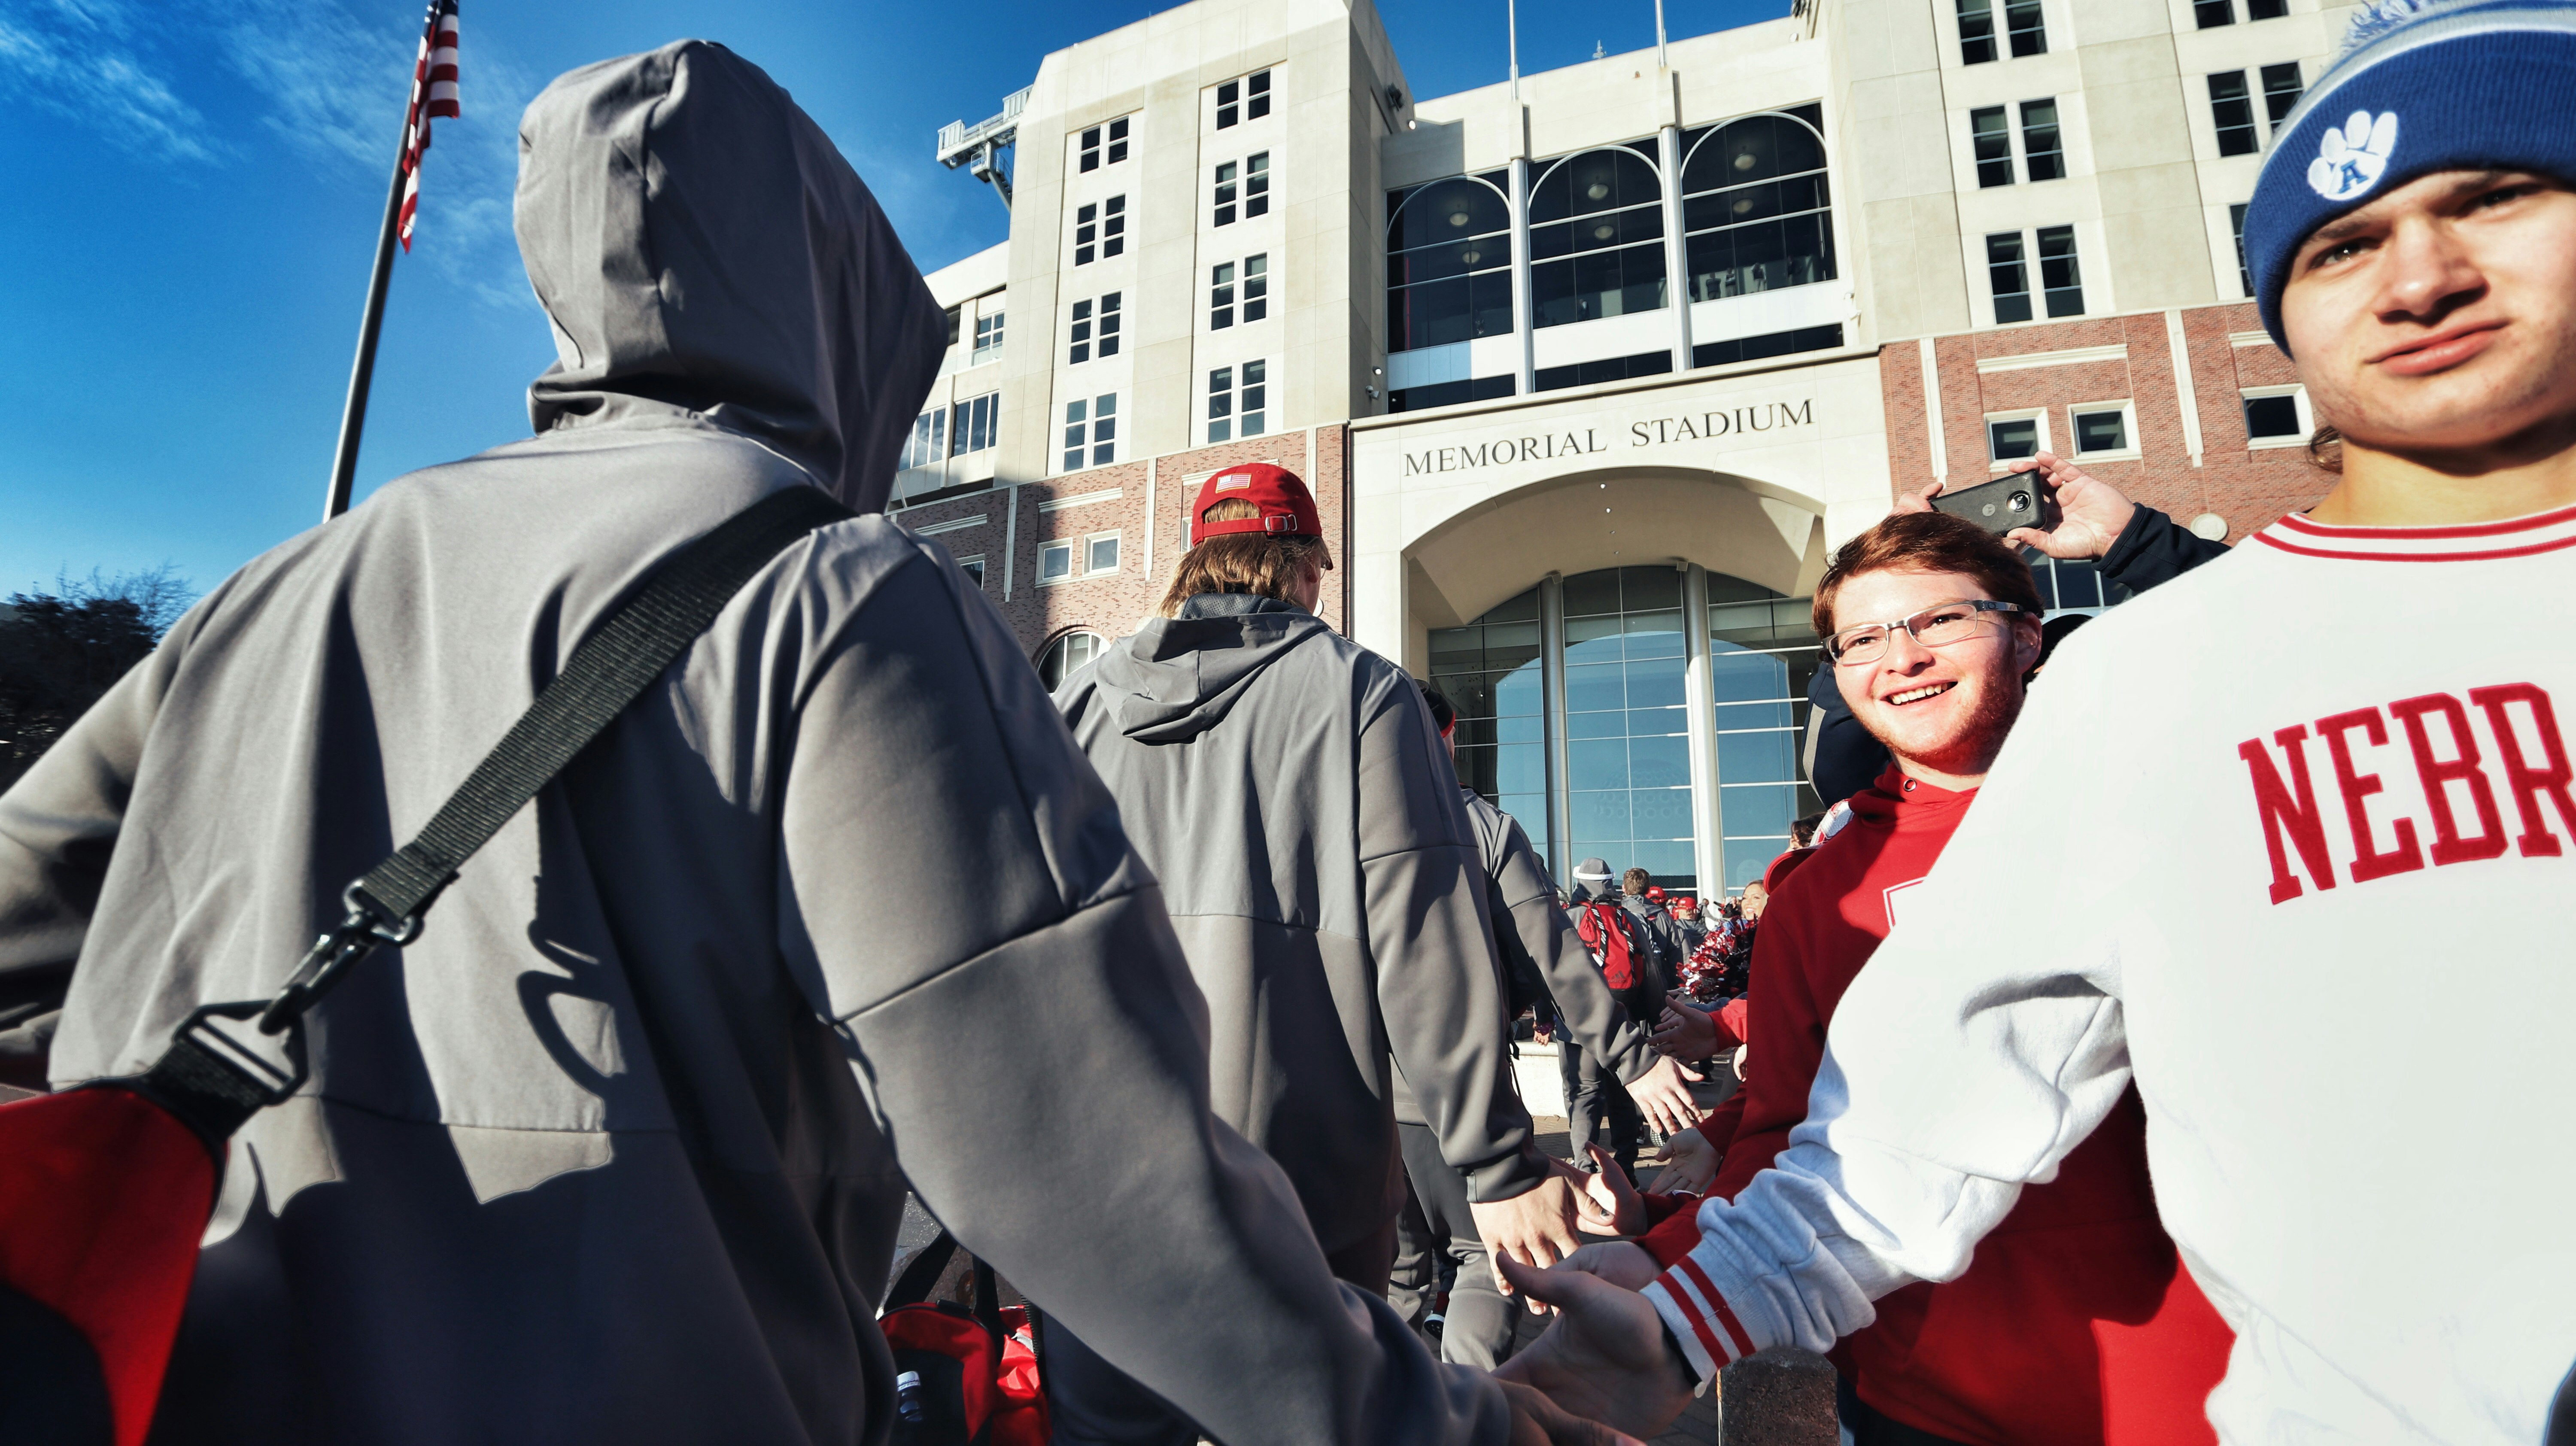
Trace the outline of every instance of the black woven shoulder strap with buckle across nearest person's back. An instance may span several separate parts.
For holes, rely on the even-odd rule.
[[[265,1008],[204,1005],[188,1016],[170,1052],[144,1077],[149,1093],[209,1139],[232,1134],[260,1106],[291,1095],[304,1083],[301,1031],[289,1036],[291,1070],[278,1070],[209,1021],[255,1013],[260,1031],[283,1034],[376,946],[417,938],[420,912],[456,879],[464,861],[688,652],[755,572],[796,539],[850,516],[855,513],[819,487],[786,487],[683,546],[641,593],[618,603],[572,650],[554,683],[546,683],[428,827],[348,887],[348,918],[312,946]]]

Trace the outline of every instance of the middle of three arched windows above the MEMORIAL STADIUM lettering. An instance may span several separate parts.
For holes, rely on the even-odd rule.
[[[1664,188],[1643,144],[1569,155],[1530,183],[1533,325],[1664,304]]]

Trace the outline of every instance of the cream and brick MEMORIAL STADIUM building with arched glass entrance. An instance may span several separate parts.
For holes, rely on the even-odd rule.
[[[1458,701],[1558,879],[1739,889],[1814,809],[1808,590],[1899,490],[2050,448],[2205,536],[2324,492],[2236,237],[2347,13],[1801,0],[1432,98],[1368,0],[1193,0],[940,131],[1010,240],[930,278],[896,516],[1054,683],[1203,477],[1291,467],[1327,621]]]

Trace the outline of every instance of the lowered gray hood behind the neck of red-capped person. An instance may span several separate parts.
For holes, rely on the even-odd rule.
[[[1118,732],[1188,742],[1221,724],[1265,668],[1324,631],[1324,619],[1244,593],[1200,593],[1092,665]]]

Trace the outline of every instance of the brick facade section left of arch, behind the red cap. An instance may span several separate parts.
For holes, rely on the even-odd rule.
[[[1092,467],[1041,482],[1005,482],[894,516],[943,544],[951,557],[984,559],[984,595],[1002,608],[1020,650],[1036,662],[1069,631],[1126,637],[1154,616],[1172,564],[1190,549],[1190,497],[1211,472],[1242,461],[1275,461],[1303,477],[1314,490],[1334,559],[1350,554],[1350,428],[1340,423]],[[1061,583],[1038,583],[1046,544],[1072,541],[1079,567],[1087,539],[1110,531],[1118,534],[1115,572],[1077,572]],[[1327,626],[1345,629],[1347,570],[1324,580],[1321,616]]]

